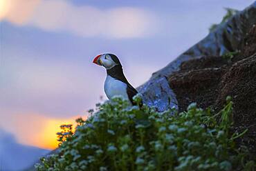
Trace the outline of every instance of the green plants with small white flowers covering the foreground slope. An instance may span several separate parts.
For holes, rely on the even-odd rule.
[[[134,99],[140,103],[140,98]],[[223,110],[188,106],[188,111],[156,112],[113,99],[98,105],[88,120],[77,119],[73,134],[59,133],[60,153],[42,158],[37,170],[251,170],[248,150],[231,134],[232,101]],[[73,135],[72,135],[73,134]],[[65,140],[66,141],[63,141]]]

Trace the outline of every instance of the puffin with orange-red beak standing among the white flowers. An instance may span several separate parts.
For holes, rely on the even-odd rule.
[[[136,105],[133,97],[138,94],[137,90],[127,81],[122,64],[116,54],[99,54],[93,59],[93,63],[103,66],[107,70],[107,77],[104,82],[104,92],[108,99],[114,96],[120,96],[122,99],[130,101],[132,105]]]

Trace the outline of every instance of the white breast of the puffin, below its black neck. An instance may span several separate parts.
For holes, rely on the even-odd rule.
[[[107,75],[104,83],[104,91],[109,99],[113,98],[114,96],[129,99],[127,95],[127,84],[119,81],[118,79],[114,79],[109,75]]]

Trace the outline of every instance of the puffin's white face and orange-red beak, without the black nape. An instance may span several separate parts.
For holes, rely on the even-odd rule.
[[[113,68],[118,65],[109,54],[100,54],[93,60],[93,63],[96,63],[99,66],[104,66],[107,70]]]

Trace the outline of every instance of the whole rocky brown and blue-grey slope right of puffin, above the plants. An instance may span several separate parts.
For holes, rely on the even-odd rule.
[[[248,132],[237,142],[256,154],[256,1],[219,25],[140,86],[143,101],[159,111],[201,108],[220,110],[232,97],[234,132]],[[228,52],[238,54],[223,55]]]

